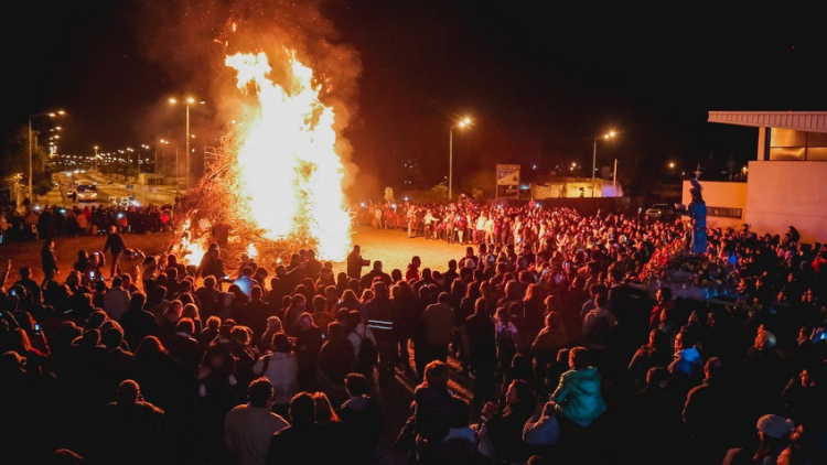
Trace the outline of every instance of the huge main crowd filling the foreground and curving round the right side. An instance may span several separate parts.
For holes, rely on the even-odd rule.
[[[740,280],[741,299],[722,305],[635,283],[656,250],[686,240],[680,221],[402,208],[422,214],[409,236],[470,242],[464,256],[388,273],[355,246],[339,273],[312,250],[268,270],[229,263],[216,238],[185,267],[128,249],[116,227],[63,282],[47,270],[51,239],[44,282],[21,269],[6,283],[9,263],[0,411],[13,421],[0,422],[0,455],[329,464],[379,463],[385,447],[412,464],[824,463],[827,247],[794,228],[710,229],[708,256]],[[384,444],[386,410],[402,401],[386,392],[402,381],[416,386],[410,417]]]

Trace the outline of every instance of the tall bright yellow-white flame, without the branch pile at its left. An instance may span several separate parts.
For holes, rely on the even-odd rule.
[[[238,216],[268,239],[312,238],[321,257],[343,259],[351,217],[342,193],[344,166],[334,147],[334,112],[319,99],[313,71],[289,53],[286,87],[270,78],[262,53],[238,53],[225,64],[239,89],[257,97],[238,131]]]

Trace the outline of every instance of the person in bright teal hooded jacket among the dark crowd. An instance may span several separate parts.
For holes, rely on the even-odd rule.
[[[551,394],[555,413],[588,428],[605,412],[605,402],[600,393],[600,374],[591,366],[591,355],[586,347],[574,347],[569,352],[569,368]]]

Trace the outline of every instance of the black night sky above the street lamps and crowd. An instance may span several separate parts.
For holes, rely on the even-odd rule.
[[[194,54],[179,62],[186,69],[174,69],[144,35],[170,21],[160,6],[201,3],[3,2],[0,132],[58,107],[69,112],[62,122],[67,153],[183,132],[183,115],[163,102],[183,91],[208,94],[210,68]],[[388,182],[401,180],[408,159],[427,166],[426,184],[447,174],[448,130],[464,115],[476,125],[454,133],[460,173],[497,162],[540,171],[590,164],[592,138],[608,129],[620,137],[600,145],[602,164],[619,158],[627,169],[669,160],[711,167],[730,153],[743,163],[754,155],[755,131],[708,123],[707,111],[827,109],[827,9],[815,2],[320,3],[335,41],[361,61],[358,109],[345,133],[353,160],[364,175]],[[211,21],[217,36],[226,20]],[[214,126],[214,113],[195,115],[192,132]]]

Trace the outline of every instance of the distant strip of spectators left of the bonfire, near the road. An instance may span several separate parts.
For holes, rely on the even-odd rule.
[[[159,233],[174,229],[173,219],[171,205],[30,205],[22,213],[9,205],[0,209],[0,240],[103,236],[112,226],[121,233]]]

